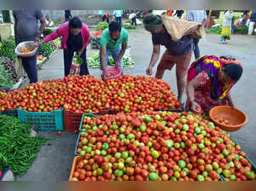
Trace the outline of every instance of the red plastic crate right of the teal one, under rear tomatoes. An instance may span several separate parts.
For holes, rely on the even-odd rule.
[[[104,115],[108,114],[108,111],[102,111],[101,113],[86,113],[90,115]],[[83,114],[74,113],[72,111],[64,110],[64,124],[65,130],[79,130]],[[95,116],[94,116],[95,117]]]

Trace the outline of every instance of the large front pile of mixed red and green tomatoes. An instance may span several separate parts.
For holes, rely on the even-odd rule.
[[[230,136],[193,113],[84,117],[72,181],[255,180]]]

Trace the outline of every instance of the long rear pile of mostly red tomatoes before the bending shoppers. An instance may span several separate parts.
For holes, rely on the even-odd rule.
[[[0,111],[50,112],[62,107],[75,113],[181,109],[170,86],[156,78],[121,76],[106,82],[93,76],[67,76],[0,91]]]

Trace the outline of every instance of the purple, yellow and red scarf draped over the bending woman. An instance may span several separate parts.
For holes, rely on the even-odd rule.
[[[209,78],[212,81],[212,100],[223,99],[233,87],[233,84],[223,84],[219,79],[219,72],[224,69],[224,66],[230,63],[237,63],[241,66],[240,61],[227,61],[219,59],[215,55],[205,55],[194,61],[189,67],[188,83],[192,81],[198,73],[205,71],[208,73]]]

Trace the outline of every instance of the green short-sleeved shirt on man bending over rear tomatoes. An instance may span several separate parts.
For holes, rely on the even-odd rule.
[[[102,37],[101,37],[101,46],[106,46],[107,49],[116,49],[121,46],[122,43],[127,43],[128,42],[128,32],[122,28],[119,38],[117,41],[113,40],[110,35],[108,28],[102,32]]]

